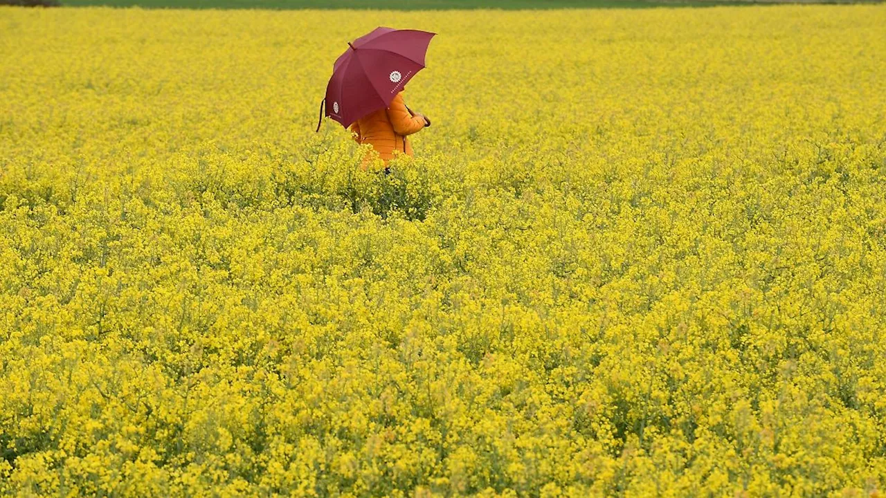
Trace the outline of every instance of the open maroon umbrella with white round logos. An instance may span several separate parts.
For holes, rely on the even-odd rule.
[[[391,105],[403,86],[424,69],[424,54],[434,35],[416,29],[377,27],[354,43],[348,42],[350,48],[336,59],[326,85],[317,131],[323,122],[323,103],[326,115],[345,128]]]

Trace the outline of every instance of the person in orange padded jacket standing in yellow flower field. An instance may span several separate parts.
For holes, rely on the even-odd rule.
[[[358,144],[371,144],[387,166],[387,162],[394,158],[395,151],[412,157],[412,145],[406,137],[428,126],[431,126],[431,121],[424,114],[412,113],[403,102],[403,92],[400,91],[386,109],[362,117],[350,129],[354,140]],[[371,159],[370,156],[365,158],[361,167],[365,169]]]

